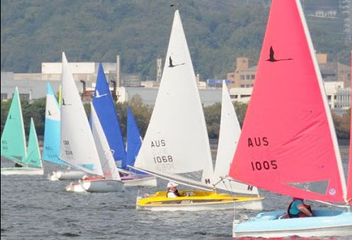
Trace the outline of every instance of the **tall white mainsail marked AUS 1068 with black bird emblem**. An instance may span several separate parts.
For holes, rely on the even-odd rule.
[[[193,179],[203,186],[213,184],[203,108],[178,11],[156,104],[134,166],[164,176]]]

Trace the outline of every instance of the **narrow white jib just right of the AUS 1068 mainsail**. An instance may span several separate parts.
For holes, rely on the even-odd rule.
[[[247,184],[240,184],[236,181],[223,180],[221,178],[230,179],[228,172],[230,164],[235,155],[238,139],[240,138],[241,127],[237,119],[233,102],[231,101],[225,80],[223,80],[223,96],[221,104],[221,124],[218,142],[218,153],[216,155],[216,165],[214,170],[214,182],[216,188],[235,193],[258,194],[258,188]]]

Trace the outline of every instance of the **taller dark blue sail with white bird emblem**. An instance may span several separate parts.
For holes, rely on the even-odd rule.
[[[99,65],[97,83],[93,95],[93,106],[97,112],[102,129],[104,130],[110,150],[116,162],[126,162],[126,149],[122,137],[119,118],[112,100],[109,84],[105,78],[102,64]]]

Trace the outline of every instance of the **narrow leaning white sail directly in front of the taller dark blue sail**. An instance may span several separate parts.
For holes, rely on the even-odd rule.
[[[95,112],[93,103],[90,102],[90,111],[91,111],[91,121],[92,121],[92,133],[95,140],[95,145],[98,150],[98,155],[100,159],[100,164],[102,166],[102,174],[105,176],[105,179],[113,179],[121,181],[119,177],[119,172],[115,164],[114,157],[110,151],[109,143],[105,137],[105,133],[102,130],[102,126],[98,119],[98,115]]]

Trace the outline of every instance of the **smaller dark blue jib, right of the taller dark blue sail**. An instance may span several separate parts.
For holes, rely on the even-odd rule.
[[[134,121],[131,109],[127,107],[127,164],[122,165],[123,168],[126,168],[127,165],[134,165],[141,145],[141,134],[136,121]]]

